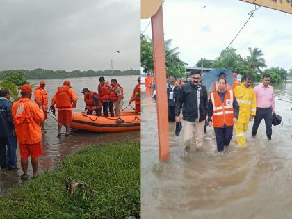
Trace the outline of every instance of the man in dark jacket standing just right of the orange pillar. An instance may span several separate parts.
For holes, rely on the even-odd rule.
[[[177,103],[177,96],[179,95],[179,86],[175,84],[175,76],[169,77],[168,83],[168,122],[175,122],[175,104]]]

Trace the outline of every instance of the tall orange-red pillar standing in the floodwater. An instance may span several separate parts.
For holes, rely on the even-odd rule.
[[[156,82],[156,108],[159,134],[159,159],[170,157],[170,143],[168,133],[168,95],[166,91],[166,70],[163,33],[162,5],[151,17],[153,62]]]

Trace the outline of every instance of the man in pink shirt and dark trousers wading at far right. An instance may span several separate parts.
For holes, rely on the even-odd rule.
[[[263,74],[263,83],[254,87],[257,99],[257,112],[252,126],[252,136],[257,135],[257,129],[261,120],[265,120],[266,136],[272,139],[272,114],[276,115],[275,97],[273,87],[270,86],[270,74]]]

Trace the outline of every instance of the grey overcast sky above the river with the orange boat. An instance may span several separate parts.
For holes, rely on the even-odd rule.
[[[1,0],[0,70],[140,69],[139,33],[140,0]]]

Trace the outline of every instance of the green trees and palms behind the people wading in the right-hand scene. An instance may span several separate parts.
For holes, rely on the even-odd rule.
[[[141,67],[144,72],[154,72],[153,67],[153,49],[152,40],[145,35],[140,35],[141,38]],[[172,40],[165,40],[165,65],[166,74],[175,77],[184,77],[186,74],[185,65],[183,60],[179,58],[178,47],[171,48]],[[263,51],[259,48],[248,48],[250,55],[242,58],[236,52],[236,49],[228,47],[223,49],[220,56],[215,60],[203,59],[203,67],[207,68],[225,68],[235,70],[243,77],[251,75],[254,81],[261,81],[263,74],[268,73],[271,76],[272,83],[279,83],[286,81],[288,77],[292,77],[292,67],[289,71],[282,67],[266,68],[266,60],[263,58]],[[201,67],[201,60],[197,62],[195,67]],[[266,69],[263,69],[266,68]]]

